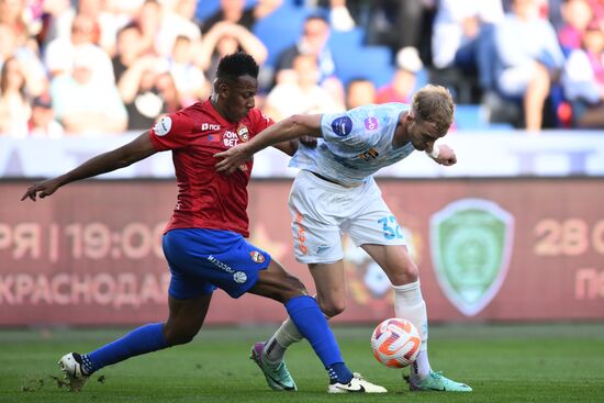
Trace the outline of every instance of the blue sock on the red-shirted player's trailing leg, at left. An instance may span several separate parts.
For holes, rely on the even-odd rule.
[[[82,355],[83,370],[90,374],[105,366],[123,361],[130,357],[168,347],[163,329],[163,323],[141,326],[115,342]]]

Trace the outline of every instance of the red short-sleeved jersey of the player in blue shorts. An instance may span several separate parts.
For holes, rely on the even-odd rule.
[[[272,123],[258,109],[239,122],[228,122],[206,100],[165,116],[149,131],[157,150],[172,150],[178,202],[166,232],[211,228],[249,236],[247,183],[254,163],[231,175],[219,173],[214,154],[247,142]]]

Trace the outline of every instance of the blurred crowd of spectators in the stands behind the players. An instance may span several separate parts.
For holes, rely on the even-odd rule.
[[[434,82],[457,128],[604,128],[604,0],[0,0],[0,135],[146,130],[237,49],[275,120]]]

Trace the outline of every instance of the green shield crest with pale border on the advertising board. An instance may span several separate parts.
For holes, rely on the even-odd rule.
[[[458,200],[432,216],[436,279],[466,316],[478,314],[497,294],[513,242],[514,217],[489,200]]]

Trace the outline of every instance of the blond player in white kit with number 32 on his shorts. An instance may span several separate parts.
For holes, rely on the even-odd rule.
[[[422,335],[421,351],[409,378],[411,390],[417,391],[472,389],[430,368],[426,304],[417,267],[402,236],[391,230],[399,224],[372,175],[414,150],[426,152],[438,164],[454,165],[455,152],[447,145],[435,146],[447,134],[454,109],[449,91],[426,86],[411,105],[369,104],[340,113],[293,115],[215,155],[216,169],[231,173],[267,146],[317,137],[314,147],[301,145],[290,161],[291,167],[300,168],[289,200],[295,257],[309,265],[316,299],[328,317],[346,307],[340,232],[380,265],[394,289],[395,315],[410,320]],[[279,366],[286,349],[301,339],[288,318],[267,343],[253,347],[251,358],[265,371],[266,367]]]

